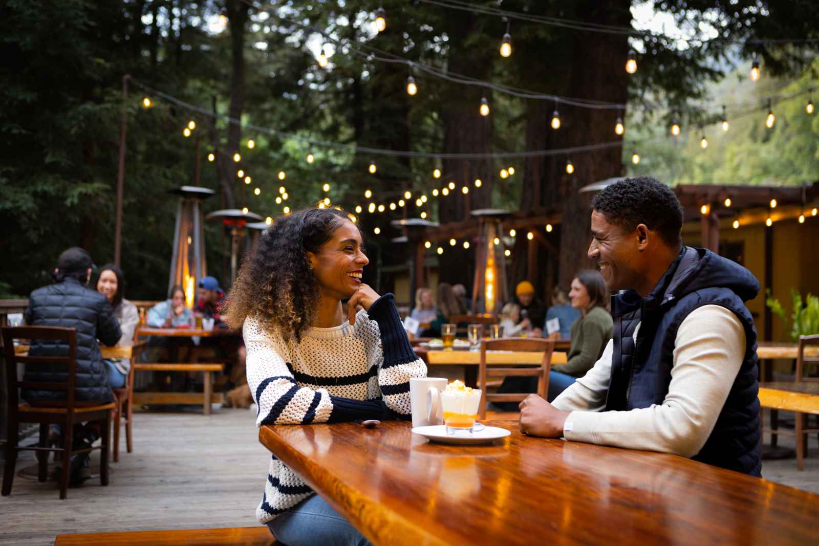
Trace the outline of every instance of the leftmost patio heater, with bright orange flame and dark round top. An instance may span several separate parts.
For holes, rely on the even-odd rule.
[[[197,281],[207,275],[205,232],[199,203],[215,192],[206,187],[183,186],[171,190],[179,198],[174,228],[174,253],[170,259],[168,292],[179,285],[185,292],[185,305],[193,307]]]

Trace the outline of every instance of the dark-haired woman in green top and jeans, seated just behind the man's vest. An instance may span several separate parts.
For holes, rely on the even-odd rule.
[[[565,364],[552,364],[549,372],[549,401],[586,375],[600,359],[612,337],[613,320],[609,314],[609,291],[599,271],[584,269],[572,280],[568,293],[572,307],[581,318],[572,324],[572,345]]]

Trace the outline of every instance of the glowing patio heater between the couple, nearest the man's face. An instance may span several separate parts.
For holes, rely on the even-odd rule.
[[[474,314],[494,316],[500,313],[509,296],[506,287],[506,255],[502,225],[509,212],[479,209],[473,210],[472,215],[478,219],[472,309]]]

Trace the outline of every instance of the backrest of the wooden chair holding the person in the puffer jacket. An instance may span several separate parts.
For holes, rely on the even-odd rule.
[[[16,413],[19,400],[17,389],[54,390],[66,392],[65,403],[43,404],[59,405],[68,408],[69,416],[75,408],[75,383],[77,378],[77,331],[75,328],[54,326],[19,326],[2,327],[3,356],[6,359],[6,381],[8,388],[8,410]],[[48,340],[62,341],[68,345],[65,356],[30,356],[15,354],[14,340]],[[65,366],[66,381],[18,381],[17,363],[29,366]]]

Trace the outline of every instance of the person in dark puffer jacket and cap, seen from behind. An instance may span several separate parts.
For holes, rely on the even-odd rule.
[[[112,402],[109,372],[102,361],[97,339],[105,345],[120,340],[120,323],[114,317],[106,296],[86,285],[93,267],[91,255],[74,247],[64,251],[54,271],[55,284],[38,288],[29,296],[25,323],[29,326],[59,326],[77,330],[78,402]],[[32,341],[31,356],[64,356],[68,345],[54,341]],[[38,365],[26,368],[25,381],[66,381],[65,366]],[[120,385],[121,386],[121,385]],[[66,394],[54,390],[23,390],[22,398],[29,404],[56,402]]]

